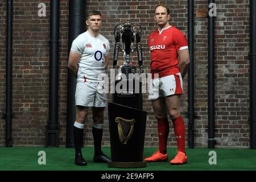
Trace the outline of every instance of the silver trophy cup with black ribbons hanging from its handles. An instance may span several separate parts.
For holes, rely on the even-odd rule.
[[[116,68],[118,60],[119,49],[123,53],[124,63],[118,68],[118,80],[121,80],[122,74],[128,77],[129,74],[135,74],[137,68],[131,63],[131,55],[137,50],[139,72],[143,73],[142,62],[142,49],[141,49],[141,36],[142,28],[139,23],[131,23],[130,19],[127,19],[126,23],[117,23],[114,28],[115,36],[115,48],[113,67]],[[122,38],[122,47],[120,46],[120,38]],[[134,48],[134,39],[136,38],[136,46]]]

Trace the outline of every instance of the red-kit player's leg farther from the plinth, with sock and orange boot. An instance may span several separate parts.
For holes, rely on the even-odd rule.
[[[180,115],[180,95],[166,97],[166,106],[174,125],[174,133],[177,140],[177,155],[170,163],[187,163],[187,156],[185,155],[185,125]]]

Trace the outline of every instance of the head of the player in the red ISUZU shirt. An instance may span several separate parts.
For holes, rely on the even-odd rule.
[[[170,20],[170,15],[167,14],[167,9],[162,6],[157,7],[155,10],[155,21],[158,23],[158,26],[168,26],[168,20]]]

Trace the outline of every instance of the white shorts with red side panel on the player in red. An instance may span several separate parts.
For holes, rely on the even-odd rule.
[[[150,80],[149,100],[156,100],[160,97],[175,94],[183,94],[183,82],[180,73]]]

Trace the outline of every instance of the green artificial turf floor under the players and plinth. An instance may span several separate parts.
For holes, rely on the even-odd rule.
[[[102,147],[109,157],[110,147]],[[151,156],[156,148],[144,148],[144,156]],[[39,151],[46,152],[46,164],[38,164]],[[209,164],[209,152],[217,154],[217,164]],[[93,147],[82,148],[87,166],[74,164],[73,148],[46,147],[0,147],[0,171],[248,171],[256,170],[256,150],[245,148],[187,148],[188,163],[179,166],[169,161],[176,154],[175,148],[168,148],[168,162],[147,163],[145,168],[109,168],[108,164],[93,162]]]

